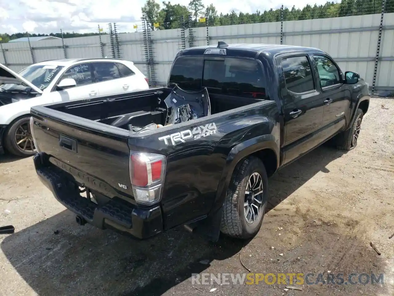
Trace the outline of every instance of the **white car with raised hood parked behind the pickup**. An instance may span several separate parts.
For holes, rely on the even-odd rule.
[[[0,64],[0,153],[35,153],[30,108],[149,89],[133,62],[68,59],[40,62],[15,73]]]

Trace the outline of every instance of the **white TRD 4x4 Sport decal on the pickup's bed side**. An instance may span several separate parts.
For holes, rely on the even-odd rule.
[[[164,141],[164,144],[166,145],[176,145],[177,143],[184,143],[187,139],[194,138],[194,140],[198,140],[200,138],[208,137],[209,135],[216,133],[216,131],[216,124],[212,122],[204,126],[194,127],[193,130],[185,129],[184,131],[165,135],[163,137],[159,137],[158,139],[159,141]]]

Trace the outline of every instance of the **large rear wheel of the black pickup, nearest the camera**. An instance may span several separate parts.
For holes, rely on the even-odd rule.
[[[261,206],[258,215],[253,223],[247,222],[245,211],[245,191],[249,178],[253,178],[257,173],[262,181],[262,194],[256,195],[253,202],[256,203],[261,197]],[[260,189],[258,189],[261,191]],[[258,193],[259,191],[255,192]],[[223,234],[233,238],[248,239],[255,236],[260,230],[265,214],[268,199],[268,176],[262,161],[254,156],[249,156],[238,163],[232,173],[229,188],[227,189],[226,200],[223,205],[223,212],[220,223],[220,230]],[[249,201],[248,201],[249,202]],[[257,203],[256,203],[257,204]],[[255,209],[255,207],[253,207]],[[250,208],[249,208],[250,210]],[[249,217],[251,212],[247,212]]]

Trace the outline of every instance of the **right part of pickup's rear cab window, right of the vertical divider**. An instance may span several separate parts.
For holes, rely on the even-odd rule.
[[[205,60],[203,86],[212,88],[212,92],[266,98],[266,79],[262,67],[256,60]]]

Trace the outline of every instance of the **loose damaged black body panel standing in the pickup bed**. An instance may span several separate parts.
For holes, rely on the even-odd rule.
[[[167,105],[165,125],[178,124],[211,115],[211,103],[208,90],[187,92],[175,85],[171,94],[164,99]]]

